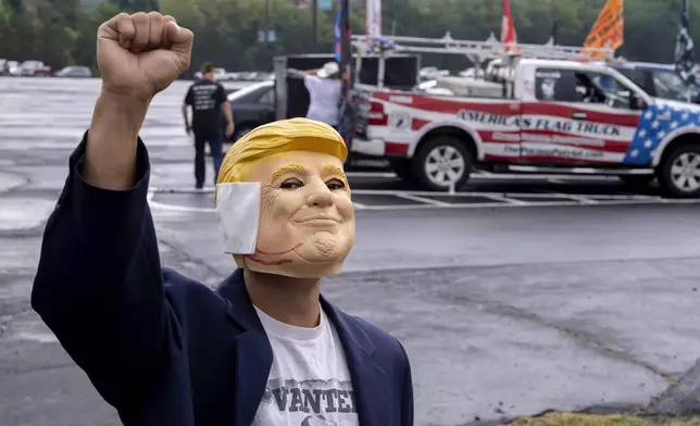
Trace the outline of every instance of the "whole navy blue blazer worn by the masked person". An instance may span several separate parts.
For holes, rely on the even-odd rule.
[[[83,180],[85,143],[46,225],[32,306],[124,425],[250,425],[273,353],[242,272],[214,291],[161,267],[142,141],[137,183],[124,191]],[[412,425],[401,343],[321,303],[347,355],[360,425]]]

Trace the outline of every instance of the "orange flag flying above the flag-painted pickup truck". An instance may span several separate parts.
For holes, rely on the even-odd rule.
[[[625,8],[623,0],[608,0],[584,42],[584,49],[618,49],[625,42]],[[587,52],[592,58],[605,58],[604,52]]]

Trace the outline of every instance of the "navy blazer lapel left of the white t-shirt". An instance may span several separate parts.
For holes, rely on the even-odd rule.
[[[246,290],[242,271],[235,271],[217,291],[228,301],[228,315],[243,329],[236,336],[234,425],[249,426],[265,392],[273,361],[272,347]]]

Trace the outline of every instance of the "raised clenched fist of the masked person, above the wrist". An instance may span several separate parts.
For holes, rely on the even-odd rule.
[[[150,100],[189,67],[192,40],[172,16],[120,13],[98,29],[102,89]]]

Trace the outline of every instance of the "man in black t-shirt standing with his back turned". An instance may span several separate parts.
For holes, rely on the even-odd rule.
[[[234,116],[226,97],[224,86],[214,79],[214,66],[202,65],[202,78],[190,86],[183,104],[183,116],[187,134],[195,133],[195,179],[197,189],[204,186],[207,166],[204,164],[204,145],[214,162],[214,185],[223,160],[223,135],[221,125],[222,108],[226,115],[226,136],[234,133]],[[187,116],[187,106],[192,108],[192,123]]]

